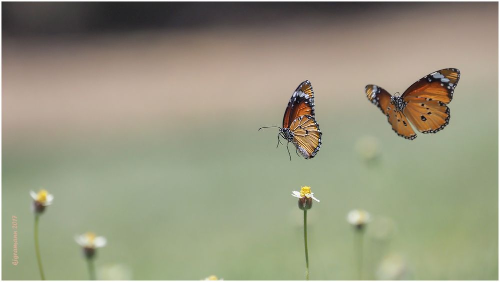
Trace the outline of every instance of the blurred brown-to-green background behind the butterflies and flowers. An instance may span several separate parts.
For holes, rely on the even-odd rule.
[[[244,5],[189,26],[2,29],[2,280],[39,279],[39,188],[55,197],[40,223],[47,279],[87,279],[73,237],[93,231],[108,240],[102,279],[302,280],[301,185],[321,201],[308,213],[312,280],[357,279],[354,208],[373,219],[365,279],[497,280],[498,3]],[[44,7],[2,17],[59,8]],[[450,123],[413,141],[363,91],[402,93],[446,67],[461,71]],[[277,129],[257,128],[280,125],[305,79],[323,143],[290,162]],[[374,163],[356,150],[367,136]]]

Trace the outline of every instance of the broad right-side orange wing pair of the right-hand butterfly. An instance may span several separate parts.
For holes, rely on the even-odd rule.
[[[446,68],[435,71],[413,83],[401,98],[406,102],[403,113],[422,133],[436,133],[449,122],[447,103],[460,79],[460,71]]]

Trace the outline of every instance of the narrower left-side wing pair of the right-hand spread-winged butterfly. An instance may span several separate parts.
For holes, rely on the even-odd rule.
[[[366,85],[364,88],[368,100],[377,106],[382,113],[387,116],[387,121],[392,126],[392,130],[405,139],[413,140],[416,134],[409,125],[403,113],[397,112],[394,105],[390,103],[390,94],[383,88],[376,85]]]

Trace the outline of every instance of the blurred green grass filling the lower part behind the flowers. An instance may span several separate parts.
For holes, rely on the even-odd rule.
[[[2,212],[18,217],[21,259],[17,267],[7,265],[11,230],[4,220],[2,278],[37,279],[28,190],[43,186],[55,196],[40,225],[49,279],[86,279],[73,236],[87,230],[108,239],[96,264],[125,265],[134,279],[197,280],[207,273],[226,280],[301,279],[301,214],[289,194],[307,184],[321,200],[309,212],[311,279],[355,277],[345,216],[362,207],[374,217],[365,244],[369,278],[395,251],[412,279],[494,280],[497,132],[460,130],[462,105],[451,104],[456,114],[445,130],[413,142],[398,138],[368,108],[370,134],[382,144],[375,167],[357,158],[353,146],[364,123],[340,123],[340,113],[327,116],[321,107],[324,142],[309,161],[290,162],[283,146],[274,149],[277,132],[256,131],[266,119],[233,120],[223,130],[192,123],[175,138],[144,130],[43,150],[9,146]]]

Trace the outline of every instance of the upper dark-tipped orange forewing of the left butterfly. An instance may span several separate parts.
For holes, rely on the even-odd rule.
[[[309,80],[300,83],[291,95],[283,115],[283,128],[289,128],[299,116],[314,116],[314,91]]]

